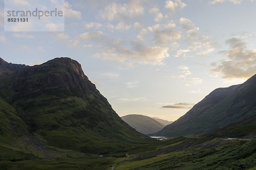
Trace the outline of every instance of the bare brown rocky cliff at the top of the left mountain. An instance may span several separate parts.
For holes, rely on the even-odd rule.
[[[83,96],[89,91],[97,91],[81,68],[70,58],[56,58],[41,65],[21,68],[15,74],[13,88],[16,94],[29,95],[61,90],[64,94]]]

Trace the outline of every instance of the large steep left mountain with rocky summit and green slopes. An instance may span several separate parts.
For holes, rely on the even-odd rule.
[[[3,144],[18,144],[26,139],[51,147],[103,154],[152,140],[113,111],[73,59],[55,58],[34,66],[0,59],[0,72]]]

